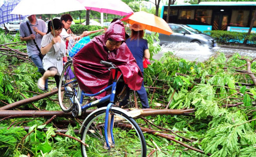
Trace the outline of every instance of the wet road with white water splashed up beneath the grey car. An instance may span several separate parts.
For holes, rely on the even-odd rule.
[[[203,62],[211,56],[215,55],[217,52],[222,52],[225,55],[233,55],[234,53],[239,53],[241,56],[249,56],[251,58],[256,58],[256,49],[236,49],[236,47],[222,47],[217,46],[213,49],[208,47],[199,46],[196,43],[174,43],[161,46],[162,51],[153,56],[154,59],[159,59],[163,53],[172,51],[174,55],[180,58],[185,58],[187,60],[197,60],[198,62]]]

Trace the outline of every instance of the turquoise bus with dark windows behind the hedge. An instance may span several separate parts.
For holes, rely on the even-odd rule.
[[[161,9],[167,19],[168,5]],[[196,5],[170,5],[169,23],[186,24],[199,31],[224,30],[248,32],[256,2],[200,2]],[[256,20],[252,33],[256,33]]]

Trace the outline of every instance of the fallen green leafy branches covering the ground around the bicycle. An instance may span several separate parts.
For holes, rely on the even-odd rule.
[[[9,35],[0,35],[0,38],[1,45],[18,41],[17,37]],[[146,38],[150,51],[159,51],[160,46],[154,45],[154,37]],[[24,45],[8,46],[26,52]],[[247,70],[247,62],[241,58],[248,57],[239,54],[226,57],[220,53],[205,62],[191,62],[168,52],[160,60],[151,58],[152,64],[144,71],[145,86],[158,89],[147,88],[150,106],[164,108],[171,100],[169,108],[195,108],[195,112],[148,116],[137,119],[137,123],[174,135],[176,140],[202,150],[204,154],[145,133],[149,150],[158,146],[161,149],[158,157],[255,157],[256,88],[243,85],[253,82],[247,73],[241,72]],[[1,51],[0,64],[0,107],[41,93],[35,83],[40,74],[31,61]],[[255,75],[255,62],[252,62],[251,70]],[[60,110],[56,99],[55,95],[33,105],[42,110]],[[33,105],[15,110],[35,110]],[[62,120],[67,119],[56,118],[54,122]],[[0,154],[3,157],[23,157],[28,153],[35,157],[80,157],[80,143],[67,137],[52,137],[56,128],[52,123],[43,125],[45,121],[45,118],[1,119]],[[28,135],[24,128],[16,126],[29,126],[28,132],[34,131]],[[42,128],[48,130],[44,132]],[[66,134],[80,139],[74,132],[79,128],[78,123],[69,125]]]

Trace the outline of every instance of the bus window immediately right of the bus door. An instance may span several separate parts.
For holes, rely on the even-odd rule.
[[[232,10],[230,26],[247,27],[249,10]]]

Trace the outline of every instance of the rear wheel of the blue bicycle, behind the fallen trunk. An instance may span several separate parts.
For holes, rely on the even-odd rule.
[[[61,88],[63,87],[65,90],[61,91]],[[74,92],[77,94],[78,88],[78,82],[76,81],[73,71],[73,63],[72,60],[69,60],[69,62],[65,64],[59,82],[58,99],[61,110],[64,112],[71,111],[71,106],[73,105],[74,101],[74,96],[72,97],[72,93]]]

